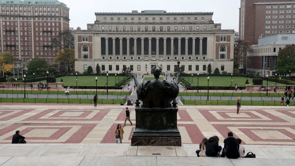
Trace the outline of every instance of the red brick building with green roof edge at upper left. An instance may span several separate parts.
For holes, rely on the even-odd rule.
[[[69,29],[69,8],[57,0],[0,0],[0,6],[0,53],[10,52],[24,69],[34,57],[53,63],[51,40]]]

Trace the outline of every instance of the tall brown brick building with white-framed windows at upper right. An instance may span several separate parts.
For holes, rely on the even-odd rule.
[[[295,1],[241,0],[240,39],[258,44],[258,38],[295,34]]]

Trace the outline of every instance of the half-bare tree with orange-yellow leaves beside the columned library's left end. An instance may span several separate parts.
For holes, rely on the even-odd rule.
[[[53,47],[57,47],[59,50],[54,59],[59,61],[60,64],[67,65],[68,69],[71,69],[75,64],[75,50],[72,49],[74,46],[73,38],[71,31],[64,30],[60,31],[51,41]]]

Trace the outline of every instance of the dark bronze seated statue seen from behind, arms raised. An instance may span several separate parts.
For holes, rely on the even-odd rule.
[[[162,71],[160,66],[158,68],[154,67],[152,71],[155,79],[142,83],[138,83],[135,75],[131,74],[137,86],[137,99],[142,100],[142,107],[171,107],[171,101],[176,99],[179,92],[178,77],[180,72],[177,73],[175,82],[167,82],[159,79]]]

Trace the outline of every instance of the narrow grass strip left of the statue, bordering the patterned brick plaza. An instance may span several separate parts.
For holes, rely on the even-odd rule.
[[[94,104],[93,99],[53,99],[53,98],[0,98],[0,102],[6,103],[69,103],[69,104]],[[124,99],[98,99],[97,104],[120,104]]]

